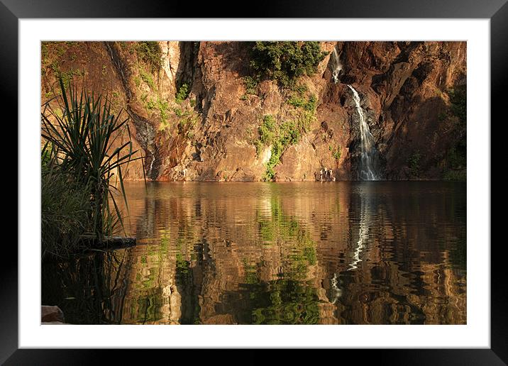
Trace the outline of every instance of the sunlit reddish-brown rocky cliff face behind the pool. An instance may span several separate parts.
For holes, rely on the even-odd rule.
[[[348,84],[375,139],[380,177],[465,172],[465,145],[457,157],[465,123],[452,103],[466,84],[464,42],[322,42],[330,53],[315,74],[299,77],[296,91],[269,79],[246,82],[250,43],[140,44],[42,46],[43,102],[57,94],[60,74],[108,93],[116,111],[131,117],[145,159],[129,165],[126,179],[143,179],[143,169],[153,180],[357,179],[360,123]],[[342,64],[336,80],[334,48]],[[306,127],[279,151],[263,143],[266,116]]]

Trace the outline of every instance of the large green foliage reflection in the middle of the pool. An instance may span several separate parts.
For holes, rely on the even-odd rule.
[[[287,245],[290,253],[283,260],[284,272],[279,274],[282,278],[270,282],[259,279],[260,262],[243,261],[245,284],[241,286],[250,301],[245,318],[239,320],[253,324],[316,324],[319,297],[316,289],[304,281],[309,265],[317,262],[316,243],[295,218],[283,213],[281,201],[275,194],[270,200],[270,209],[270,217],[262,216],[259,211],[256,215],[260,238],[263,242]]]

